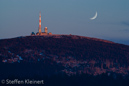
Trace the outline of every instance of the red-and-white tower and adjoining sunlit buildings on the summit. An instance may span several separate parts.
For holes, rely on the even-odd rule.
[[[31,33],[31,35],[35,35],[34,32]],[[48,33],[48,29],[47,27],[44,28],[44,32],[42,32],[41,30],[41,12],[39,13],[39,28],[38,28],[38,32],[36,33],[36,35],[52,35],[52,33]]]

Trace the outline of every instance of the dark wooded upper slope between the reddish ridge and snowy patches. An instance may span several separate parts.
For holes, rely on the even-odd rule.
[[[7,49],[5,49],[5,47]],[[0,40],[0,52],[8,55],[7,51],[24,56],[26,49],[42,51],[46,54],[60,57],[72,56],[77,60],[111,60],[120,64],[129,65],[129,46],[106,43],[87,38],[62,36],[61,38],[45,36],[28,36]]]

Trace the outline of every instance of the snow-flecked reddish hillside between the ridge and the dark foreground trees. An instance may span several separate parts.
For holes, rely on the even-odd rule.
[[[0,59],[2,71],[11,68],[13,71],[6,75],[12,76],[16,71],[23,75],[38,73],[40,76],[56,73],[129,73],[129,46],[76,35],[3,39],[0,40]],[[25,69],[26,73],[17,69]]]

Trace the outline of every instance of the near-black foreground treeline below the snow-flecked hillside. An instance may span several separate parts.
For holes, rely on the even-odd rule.
[[[55,67],[40,63],[15,63],[0,65],[2,66],[2,70],[0,71],[0,80],[44,80],[44,86],[129,86],[129,75],[123,77],[121,74],[113,72],[97,76],[89,74],[76,74],[68,76],[63,72],[56,73],[56,65]]]

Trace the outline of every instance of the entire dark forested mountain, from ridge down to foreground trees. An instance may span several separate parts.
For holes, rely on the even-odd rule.
[[[0,79],[44,86],[129,86],[129,46],[76,35],[0,40]]]

